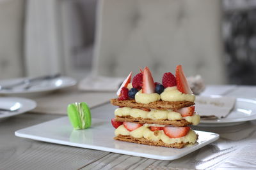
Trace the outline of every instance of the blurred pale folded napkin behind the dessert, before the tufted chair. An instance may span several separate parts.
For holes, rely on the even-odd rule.
[[[80,81],[79,90],[115,92],[125,78],[107,77],[107,76],[87,76]]]

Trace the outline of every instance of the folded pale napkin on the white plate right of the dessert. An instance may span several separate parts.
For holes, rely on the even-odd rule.
[[[235,97],[196,96],[196,112],[204,119],[225,118],[236,103]]]

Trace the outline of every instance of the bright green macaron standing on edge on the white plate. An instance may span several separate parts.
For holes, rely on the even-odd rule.
[[[74,129],[86,129],[91,126],[91,111],[85,102],[68,104],[67,111]]]

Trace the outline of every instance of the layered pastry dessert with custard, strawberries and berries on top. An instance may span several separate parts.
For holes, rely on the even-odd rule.
[[[199,124],[200,116],[182,66],[177,66],[175,76],[164,73],[161,83],[154,81],[148,67],[134,78],[130,73],[116,94],[111,99],[118,106],[111,120],[116,128],[114,139],[172,148],[196,142],[189,125]]]

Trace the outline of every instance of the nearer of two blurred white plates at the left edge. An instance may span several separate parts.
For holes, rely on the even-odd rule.
[[[0,108],[8,109],[12,107],[15,107],[15,110],[17,110],[0,111],[0,119],[12,117],[33,110],[36,107],[36,102],[31,99],[21,97],[0,97]]]

